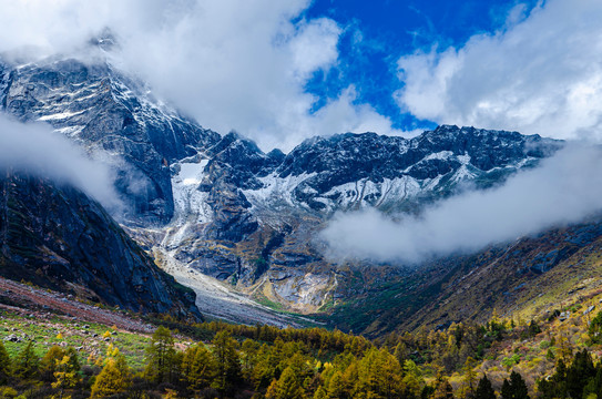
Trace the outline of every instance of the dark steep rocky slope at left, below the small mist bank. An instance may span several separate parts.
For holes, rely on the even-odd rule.
[[[153,260],[100,204],[72,187],[0,178],[0,274],[142,313],[201,319],[194,293]]]

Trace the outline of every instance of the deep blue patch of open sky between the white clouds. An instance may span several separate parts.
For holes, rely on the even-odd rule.
[[[326,17],[344,27],[339,62],[327,73],[317,71],[306,89],[319,100],[313,111],[349,84],[356,103],[369,103],[399,130],[431,129],[433,121],[400,112],[394,91],[402,85],[396,61],[404,54],[432,48],[461,47],[475,34],[503,29],[516,0],[315,0],[303,18]],[[524,12],[535,0],[521,1]]]

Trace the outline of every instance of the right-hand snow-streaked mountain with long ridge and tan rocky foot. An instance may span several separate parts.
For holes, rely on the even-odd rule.
[[[198,160],[180,164],[181,171],[198,167],[194,182],[202,194],[188,197],[208,206],[176,204],[176,214],[187,218],[172,224],[166,243],[191,267],[239,286],[268,287],[272,299],[313,311],[346,284],[315,241],[335,212],[418,212],[467,187],[500,184],[560,145],[517,132],[440,126],[411,140],[315,137],[283,155],[228,134],[203,154],[205,166]],[[182,193],[181,174],[173,186]]]

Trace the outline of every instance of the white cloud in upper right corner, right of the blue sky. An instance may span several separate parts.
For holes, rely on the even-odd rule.
[[[602,2],[549,0],[459,49],[402,57],[402,110],[438,123],[602,139]]]

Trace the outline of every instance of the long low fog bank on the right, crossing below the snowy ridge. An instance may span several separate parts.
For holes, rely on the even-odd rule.
[[[602,211],[602,150],[571,144],[503,186],[443,200],[394,222],[375,209],[337,215],[322,232],[334,258],[418,263],[470,253]]]

